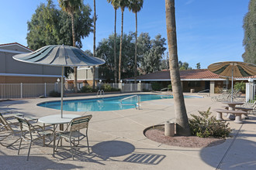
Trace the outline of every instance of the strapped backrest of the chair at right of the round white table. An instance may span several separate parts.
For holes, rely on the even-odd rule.
[[[72,119],[70,125],[71,125],[71,130],[70,131],[78,131],[83,128],[88,128],[88,123],[91,120],[92,115],[86,115],[82,117],[76,117]]]

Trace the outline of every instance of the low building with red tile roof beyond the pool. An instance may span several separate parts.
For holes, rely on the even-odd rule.
[[[199,92],[202,90],[210,90],[210,93],[216,92],[218,89],[230,89],[231,80],[226,77],[217,75],[207,69],[201,70],[181,70],[180,71],[183,92]],[[250,76],[252,80],[256,80],[256,76]],[[246,81],[249,77],[234,78],[236,81]],[[133,78],[126,81],[133,82]],[[137,81],[142,83],[161,83],[162,87],[168,87],[171,83],[170,70],[157,71],[155,73],[148,73],[145,75],[137,76]]]

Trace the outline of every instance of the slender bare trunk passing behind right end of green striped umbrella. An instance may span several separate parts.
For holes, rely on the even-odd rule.
[[[95,49],[96,49],[96,4],[95,0],[93,0],[94,7],[94,19],[93,19],[93,56],[95,57]],[[92,66],[92,88],[95,89],[95,66]]]

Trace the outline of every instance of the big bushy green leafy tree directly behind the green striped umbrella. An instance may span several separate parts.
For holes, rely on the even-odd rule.
[[[92,32],[91,12],[88,5],[82,5],[81,11],[74,14],[75,39],[79,48],[82,47],[81,39]],[[26,39],[30,49],[36,50],[50,44],[72,46],[71,18],[67,12],[55,8],[51,0],[47,1],[47,5],[41,3],[36,8],[27,26]],[[73,69],[65,67],[65,76],[71,72]]]

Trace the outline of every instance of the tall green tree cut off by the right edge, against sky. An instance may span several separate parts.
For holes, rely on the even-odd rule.
[[[244,16],[244,62],[256,64],[256,4],[254,0],[249,2],[247,14]]]

